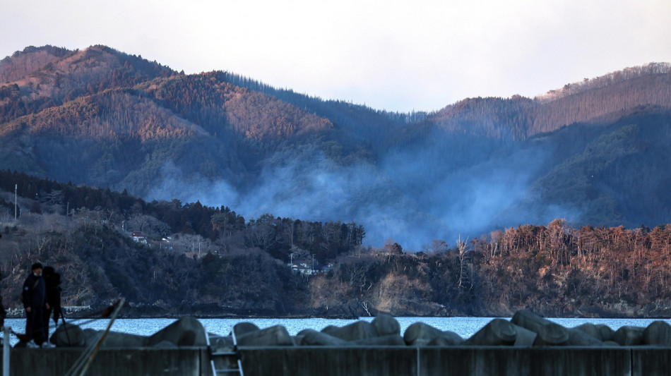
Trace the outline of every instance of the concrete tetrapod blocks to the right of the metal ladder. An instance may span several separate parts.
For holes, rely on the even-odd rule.
[[[304,329],[290,336],[281,325],[259,329],[249,322],[233,327],[239,346],[667,346],[671,347],[671,325],[665,320],[648,327],[623,326],[613,330],[607,325],[585,323],[563,327],[528,310],[519,310],[511,320],[495,318],[469,338],[455,332],[415,322],[400,332],[398,321],[379,315],[367,322],[325,327],[321,332]],[[220,345],[230,346],[222,337]],[[214,341],[213,345],[219,344]]]

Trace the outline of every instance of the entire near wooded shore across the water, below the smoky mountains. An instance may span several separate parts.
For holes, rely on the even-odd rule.
[[[16,220],[14,184],[23,193]],[[354,223],[246,220],[227,207],[0,171],[0,230],[0,293],[13,314],[36,260],[61,273],[64,305],[90,306],[85,314],[120,297],[123,317],[671,314],[671,224],[555,219],[414,253],[363,247],[366,231]],[[289,262],[311,255],[308,274],[292,272]]]

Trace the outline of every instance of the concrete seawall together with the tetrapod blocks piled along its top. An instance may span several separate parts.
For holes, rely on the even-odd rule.
[[[520,311],[467,339],[419,321],[401,334],[388,315],[295,336],[282,326],[260,329],[249,322],[233,332],[245,375],[624,376],[668,375],[671,369],[671,325],[661,320],[615,331],[590,324],[566,328]],[[55,349],[13,350],[12,374],[64,375],[95,338],[85,330],[69,338],[64,333],[59,327],[52,336]],[[184,317],[153,336],[112,334],[89,374],[212,375],[211,353],[234,350],[232,336],[208,336],[198,320]],[[214,361],[215,368],[237,368],[234,356]]]

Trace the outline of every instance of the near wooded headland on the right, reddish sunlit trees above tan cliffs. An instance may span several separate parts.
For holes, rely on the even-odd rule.
[[[316,277],[311,299],[324,309],[348,301],[359,315],[667,317],[670,287],[671,224],[576,228],[556,219],[415,254],[385,247]]]

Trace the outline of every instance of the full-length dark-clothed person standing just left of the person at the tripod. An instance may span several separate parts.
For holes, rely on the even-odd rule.
[[[34,332],[38,332],[38,340],[44,339],[44,327],[42,326],[42,315],[47,305],[47,291],[42,278],[42,264],[36,262],[30,267],[30,274],[23,282],[23,308],[25,308],[25,335],[28,337],[28,348],[38,347],[33,338]],[[43,347],[54,345],[45,341]],[[51,345],[51,346],[49,346]]]

